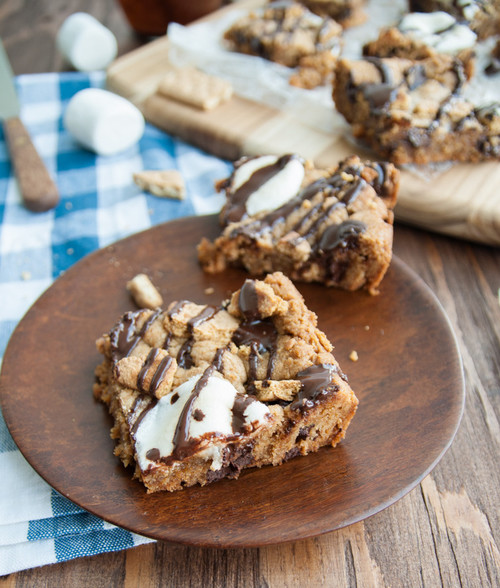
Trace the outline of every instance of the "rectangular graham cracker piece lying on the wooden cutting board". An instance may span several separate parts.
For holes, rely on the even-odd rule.
[[[158,93],[201,110],[212,110],[233,95],[230,82],[194,67],[172,68],[158,86]]]

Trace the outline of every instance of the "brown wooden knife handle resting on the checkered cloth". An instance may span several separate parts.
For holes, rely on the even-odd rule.
[[[4,121],[5,135],[26,208],[45,212],[59,202],[59,192],[22,121]]]

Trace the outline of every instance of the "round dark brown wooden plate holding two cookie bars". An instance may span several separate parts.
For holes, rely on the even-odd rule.
[[[335,449],[239,480],[148,495],[113,456],[111,420],[92,397],[95,340],[134,308],[125,283],[148,273],[165,301],[218,302],[243,272],[209,276],[196,244],[217,219],[187,218],[84,258],[49,288],[14,332],[0,391],[9,430],[58,492],[103,519],[155,539],[258,546],[319,535],[394,503],[451,444],[464,403],[450,324],[424,282],[395,258],[379,296],[299,284],[360,399]],[[212,287],[213,294],[206,289]],[[359,361],[348,356],[356,350]]]

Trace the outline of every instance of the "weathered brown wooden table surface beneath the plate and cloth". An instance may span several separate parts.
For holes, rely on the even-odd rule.
[[[67,68],[54,37],[76,11],[108,26],[121,55],[147,41],[113,0],[2,0],[0,37],[16,74]],[[455,440],[419,486],[379,514],[314,539],[240,550],[148,544],[11,574],[0,588],[500,586],[499,250],[396,224],[394,251],[441,301],[466,378]]]

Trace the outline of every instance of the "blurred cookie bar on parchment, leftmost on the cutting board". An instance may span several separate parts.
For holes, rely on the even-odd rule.
[[[298,2],[276,2],[239,19],[224,39],[234,51],[298,67],[293,84],[313,88],[331,78],[341,33],[337,22]]]

